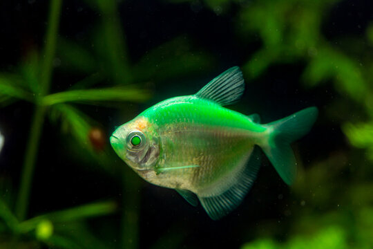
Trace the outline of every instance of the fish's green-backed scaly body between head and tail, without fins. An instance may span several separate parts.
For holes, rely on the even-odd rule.
[[[154,126],[162,148],[155,170],[140,170],[140,176],[148,180],[153,173],[156,185],[199,195],[237,170],[231,166],[246,161],[266,131],[241,113],[193,95],[160,102],[140,114],[140,120]],[[175,167],[184,168],[169,169]]]

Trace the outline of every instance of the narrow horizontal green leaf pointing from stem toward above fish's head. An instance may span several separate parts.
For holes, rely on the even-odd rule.
[[[100,101],[128,101],[144,102],[150,98],[146,89],[137,89],[135,86],[113,87],[106,89],[72,90],[53,93],[44,97],[44,105],[64,102],[82,102],[97,105]]]

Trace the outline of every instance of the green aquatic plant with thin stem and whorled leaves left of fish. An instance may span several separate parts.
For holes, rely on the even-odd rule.
[[[102,242],[94,239],[93,235],[84,232],[85,230],[78,232],[79,227],[84,225],[84,223],[79,223],[78,221],[115,212],[117,204],[113,201],[91,203],[67,210],[42,214],[31,219],[28,216],[32,178],[37,162],[39,140],[42,136],[44,120],[48,117],[56,123],[61,122],[61,127],[64,128],[64,131],[72,134],[82,145],[82,148],[90,151],[91,156],[96,156],[101,161],[107,161],[107,155],[105,158],[105,153],[107,154],[107,152],[97,156],[94,153],[95,144],[89,140],[88,135],[97,122],[78,111],[70,103],[83,102],[84,104],[97,105],[97,103],[103,101],[142,102],[149,98],[149,91],[140,89],[139,86],[128,85],[82,89],[82,86],[87,82],[83,80],[82,82],[77,82],[71,89],[66,91],[50,93],[60,11],[61,1],[51,1],[44,51],[42,53],[30,51],[28,59],[19,66],[16,73],[1,73],[0,75],[1,105],[3,107],[14,104],[19,100],[35,105],[32,122],[30,122],[30,137],[28,138],[26,156],[23,161],[21,185],[17,195],[15,210],[10,210],[8,206],[10,203],[1,201],[0,216],[4,222],[3,225],[6,225],[1,230],[3,232],[10,230],[15,235],[26,235],[31,232],[31,234],[34,234],[31,237],[44,241],[50,246],[59,246],[61,248],[80,248],[80,246],[84,246],[84,248],[106,248]],[[80,89],[77,89],[78,87]],[[76,230],[75,233],[67,232],[68,229],[72,228]],[[90,239],[82,243],[74,237],[79,237],[79,240],[84,237],[89,237]],[[1,245],[17,245],[17,243],[11,241],[12,239],[10,239],[10,242],[5,242]],[[92,243],[87,241],[92,241]]]

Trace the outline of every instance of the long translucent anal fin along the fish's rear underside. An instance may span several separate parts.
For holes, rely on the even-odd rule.
[[[233,176],[232,185],[217,196],[200,197],[200,202],[213,220],[221,219],[242,202],[253,185],[260,167],[260,149],[255,146],[247,165]]]

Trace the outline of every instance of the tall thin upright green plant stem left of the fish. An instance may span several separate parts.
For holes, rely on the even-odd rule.
[[[52,75],[52,61],[55,57],[55,46],[57,39],[57,30],[59,26],[59,13],[61,10],[61,0],[52,0],[50,2],[50,12],[48,17],[48,30],[46,34],[46,46],[44,50],[44,62],[41,67],[40,75],[40,97],[43,98],[50,88],[50,78]],[[37,105],[35,107],[32,124],[30,127],[30,136],[26,147],[26,156],[23,161],[23,170],[21,175],[21,186],[19,187],[18,199],[15,212],[19,221],[26,218],[28,202],[30,199],[30,190],[32,176],[35,169],[41,130],[43,129],[46,107]]]

